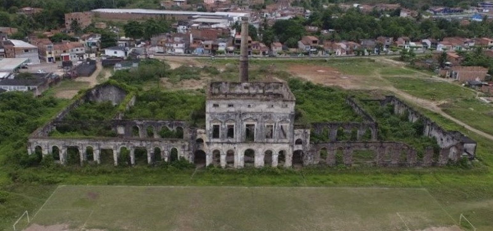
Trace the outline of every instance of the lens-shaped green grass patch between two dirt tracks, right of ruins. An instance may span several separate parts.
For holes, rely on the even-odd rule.
[[[405,78],[405,77],[384,77],[390,81],[396,88],[404,90],[405,92],[430,100],[445,100],[445,99],[457,99],[464,97],[472,97],[475,95],[471,89],[451,84],[448,82],[442,82],[435,79],[425,78]]]

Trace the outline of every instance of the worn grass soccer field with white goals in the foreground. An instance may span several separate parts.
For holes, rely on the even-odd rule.
[[[31,216],[17,230],[416,231],[456,224],[427,190],[400,188],[59,186]]]

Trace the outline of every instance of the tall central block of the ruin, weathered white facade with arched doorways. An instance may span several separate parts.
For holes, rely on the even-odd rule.
[[[294,127],[295,98],[285,83],[211,83],[206,129],[197,132],[206,164],[242,168],[302,163],[309,129]],[[294,152],[299,150],[298,152]],[[293,162],[294,156],[294,162]]]

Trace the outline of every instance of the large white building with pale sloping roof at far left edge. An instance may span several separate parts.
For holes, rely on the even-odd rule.
[[[38,50],[33,44],[22,40],[10,39],[0,41],[0,46],[3,47],[3,54],[0,53],[0,57],[29,58],[30,63],[39,63]]]

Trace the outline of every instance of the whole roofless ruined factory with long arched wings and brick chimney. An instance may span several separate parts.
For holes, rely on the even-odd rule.
[[[242,32],[247,34],[246,29]],[[52,121],[38,128],[29,138],[28,152],[44,156],[58,149],[58,161],[66,163],[67,149],[76,148],[80,163],[84,163],[88,158],[86,150],[91,148],[91,160],[100,163],[102,150],[106,149],[111,150],[112,159],[117,165],[122,147],[125,147],[130,150],[130,163],[134,165],[135,150],[141,148],[146,150],[148,164],[156,160],[184,158],[192,163],[223,168],[317,164],[351,166],[354,164],[353,153],[358,150],[373,151],[374,154],[368,156],[365,163],[373,166],[443,166],[457,162],[462,156],[469,159],[475,157],[476,142],[457,131],[441,128],[394,96],[370,101],[376,101],[382,106],[392,105],[395,114],[406,115],[409,121],[422,121],[423,135],[434,138],[439,150],[429,147],[423,155],[418,155],[417,150],[408,144],[379,141],[378,123],[351,97],[346,99],[346,103],[362,121],[297,125],[294,123],[295,97],[287,84],[248,82],[247,65],[247,56],[242,56],[240,82],[210,83],[206,98],[205,128],[192,127],[185,121],[176,120],[122,119],[125,109],[134,105],[135,96],[120,87],[103,84],[86,92]],[[85,102],[108,100],[122,108],[112,120],[106,124],[80,122],[92,126],[110,126],[115,137],[49,136],[57,126],[63,125],[63,118],[70,110]],[[180,137],[162,138],[157,132],[162,128],[179,131]],[[137,131],[137,134],[133,131]],[[152,131],[153,136],[148,137],[146,131]],[[337,141],[339,131],[345,134],[354,131],[355,140]],[[368,139],[363,139],[366,134]],[[313,142],[311,136],[325,136],[327,140]]]

